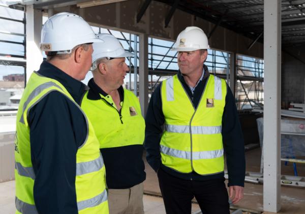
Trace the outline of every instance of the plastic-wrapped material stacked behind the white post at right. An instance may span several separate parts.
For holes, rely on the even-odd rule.
[[[257,128],[260,145],[263,142],[263,118],[258,118]],[[305,120],[281,120],[281,157],[305,156]]]

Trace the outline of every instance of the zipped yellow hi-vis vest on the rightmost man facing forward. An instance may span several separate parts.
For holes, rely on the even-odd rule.
[[[162,82],[165,130],[160,142],[162,164],[181,173],[224,171],[222,116],[227,86],[209,75],[197,109],[174,75]]]

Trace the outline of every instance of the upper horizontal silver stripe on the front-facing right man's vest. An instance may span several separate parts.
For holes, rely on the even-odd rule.
[[[192,126],[192,135],[212,135],[221,133],[222,126]],[[188,125],[169,125],[165,124],[165,130],[175,133],[190,133],[190,126]]]

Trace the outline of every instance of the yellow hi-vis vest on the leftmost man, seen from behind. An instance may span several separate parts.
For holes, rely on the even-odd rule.
[[[15,139],[16,213],[37,214],[33,197],[35,173],[31,161],[31,144],[27,115],[29,110],[51,91],[58,91],[80,109],[66,88],[54,79],[34,72],[23,92],[17,113]],[[87,138],[76,153],[76,198],[80,214],[108,213],[105,167],[92,124],[87,123]],[[60,124],[58,124],[60,125]]]

